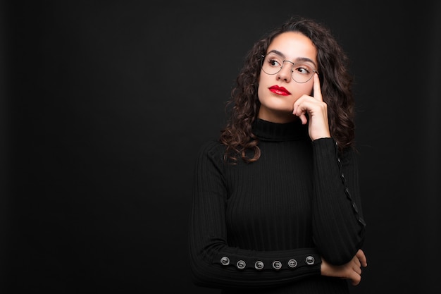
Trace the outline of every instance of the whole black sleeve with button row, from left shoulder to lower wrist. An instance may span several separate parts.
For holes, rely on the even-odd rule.
[[[256,251],[228,245],[228,191],[219,145],[204,145],[195,166],[189,230],[194,283],[211,288],[262,288],[320,275],[321,257],[314,248]]]

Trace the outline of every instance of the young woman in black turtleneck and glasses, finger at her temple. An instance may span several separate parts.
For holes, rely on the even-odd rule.
[[[254,44],[219,140],[202,146],[194,283],[222,293],[349,293],[366,256],[347,57],[291,18]]]

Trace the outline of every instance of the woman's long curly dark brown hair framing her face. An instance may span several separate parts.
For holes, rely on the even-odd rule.
[[[317,49],[323,102],[328,104],[330,134],[340,151],[354,145],[354,97],[352,76],[347,71],[348,58],[330,30],[315,20],[293,16],[280,27],[254,44],[245,56],[244,66],[236,79],[227,107],[230,119],[221,130],[221,142],[226,145],[225,160],[237,161],[240,156],[246,162],[259,159],[259,140],[251,131],[251,125],[259,114],[257,97],[261,56],[275,37],[283,32],[301,32],[309,37]],[[252,156],[249,156],[249,151]]]

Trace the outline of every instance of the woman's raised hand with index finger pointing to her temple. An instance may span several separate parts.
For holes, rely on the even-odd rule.
[[[323,102],[321,95],[320,80],[317,73],[313,76],[313,97],[302,95],[294,102],[294,111],[292,114],[299,116],[303,124],[308,122],[306,114],[309,117],[309,137],[311,140],[322,137],[330,137],[328,124],[328,105]]]

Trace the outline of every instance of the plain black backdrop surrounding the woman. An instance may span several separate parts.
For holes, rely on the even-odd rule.
[[[437,293],[440,3],[2,3],[1,293],[218,293],[187,265],[194,157],[247,50],[292,14],[352,60],[368,223],[352,292]]]

